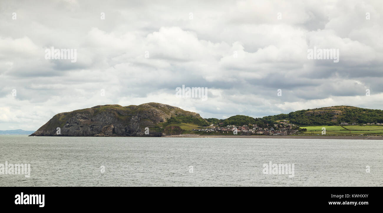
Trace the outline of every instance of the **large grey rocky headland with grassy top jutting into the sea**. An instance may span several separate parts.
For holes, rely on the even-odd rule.
[[[165,134],[156,125],[177,116],[201,118],[198,113],[162,103],[99,105],[59,113],[30,136],[162,136]],[[149,134],[145,134],[146,127]]]

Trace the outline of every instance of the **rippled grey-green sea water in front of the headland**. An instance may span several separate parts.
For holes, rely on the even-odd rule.
[[[31,164],[0,186],[382,186],[382,154],[381,140],[0,135],[0,164]],[[294,177],[263,174],[270,161]]]

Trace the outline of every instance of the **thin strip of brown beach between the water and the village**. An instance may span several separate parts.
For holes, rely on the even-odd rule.
[[[200,135],[200,134],[178,134],[163,136],[162,138],[280,138],[280,139],[353,139],[353,140],[383,140],[383,136],[267,136],[267,135]]]

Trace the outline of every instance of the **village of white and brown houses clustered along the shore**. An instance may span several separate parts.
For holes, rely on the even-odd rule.
[[[269,126],[266,124],[267,127],[259,127],[256,124],[249,124],[249,125],[243,125],[243,126],[235,126],[235,125],[227,125],[226,127],[223,126],[223,123],[219,123],[218,125],[212,125],[208,128],[204,129],[193,129],[193,131],[206,131],[206,132],[233,132],[234,134],[264,134],[264,135],[289,135],[289,134],[295,134],[298,132],[297,129],[293,129],[292,127],[295,126],[290,123],[286,122],[279,122],[279,124],[275,124],[273,126]]]

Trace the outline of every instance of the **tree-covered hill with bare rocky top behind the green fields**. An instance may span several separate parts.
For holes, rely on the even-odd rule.
[[[339,125],[341,122],[360,124],[383,123],[383,111],[355,106],[329,106],[266,116],[264,119],[286,119],[296,125]]]

